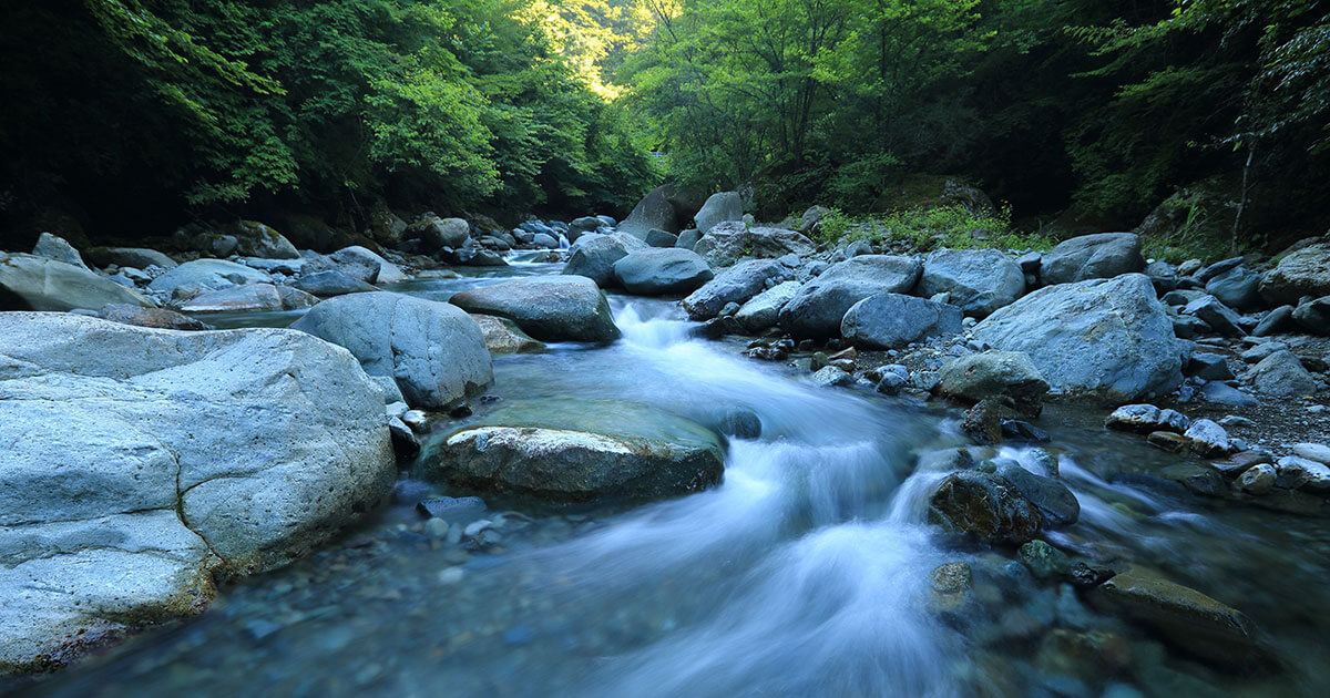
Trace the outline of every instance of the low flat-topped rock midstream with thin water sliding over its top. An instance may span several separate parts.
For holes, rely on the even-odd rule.
[[[426,468],[456,487],[549,501],[686,495],[721,479],[720,436],[637,403],[515,404],[450,435]]]

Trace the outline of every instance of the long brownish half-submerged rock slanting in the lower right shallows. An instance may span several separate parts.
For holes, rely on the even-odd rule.
[[[1124,572],[1091,596],[1119,613],[1158,630],[1174,646],[1221,666],[1254,658],[1256,629],[1241,612],[1180,584],[1144,572]]]

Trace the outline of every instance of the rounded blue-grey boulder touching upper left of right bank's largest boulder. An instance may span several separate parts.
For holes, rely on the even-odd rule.
[[[987,318],[1025,292],[1025,274],[998,250],[938,250],[924,259],[915,292],[950,294],[966,315]]]

